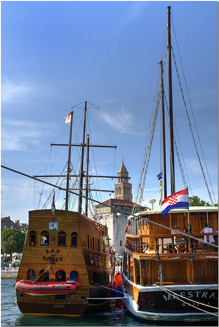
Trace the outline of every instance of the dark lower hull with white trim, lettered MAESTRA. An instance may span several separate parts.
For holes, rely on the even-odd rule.
[[[139,306],[133,297],[125,296],[122,300],[127,310],[134,316],[144,319],[144,320],[156,320],[156,321],[187,321],[187,322],[198,322],[198,321],[217,321],[218,320],[218,312],[216,309],[213,309],[213,312],[209,313],[209,308],[212,306],[211,302],[214,299],[214,303],[217,303],[217,290],[218,285],[174,285],[174,286],[165,286],[167,291],[174,291],[178,294],[188,294],[188,297],[180,297],[177,298],[173,295],[164,293],[158,286],[140,286],[128,281],[127,277],[126,281],[130,283],[135,288],[139,289],[139,294],[143,292],[143,297],[145,301],[148,301],[149,298],[156,298],[158,303],[153,304],[153,300],[151,300],[152,306],[150,311],[139,310]],[[123,291],[125,291],[124,285],[122,284]],[[155,293],[156,292],[156,293]],[[158,293],[157,293],[158,292]],[[172,293],[171,293],[172,294]],[[216,297],[216,298],[215,298]],[[186,303],[185,303],[186,302]],[[190,303],[191,306],[196,307],[196,312],[192,312],[187,303]],[[204,303],[207,306],[203,306],[200,303]],[[156,304],[159,307],[159,310],[156,309]],[[154,306],[154,309],[153,309]],[[214,305],[215,307],[215,305]],[[173,308],[175,310],[173,310]],[[160,311],[160,312],[158,312]],[[171,311],[176,311],[173,313]],[[212,308],[211,308],[212,311]]]

